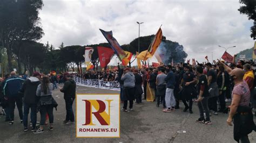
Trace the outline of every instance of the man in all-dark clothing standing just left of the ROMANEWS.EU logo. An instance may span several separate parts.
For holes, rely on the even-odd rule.
[[[69,121],[71,121],[71,123],[74,123],[75,121],[72,105],[76,98],[76,83],[69,73],[64,73],[64,76],[66,81],[60,91],[64,92],[64,99],[66,103],[66,119],[63,120],[63,123],[67,124]]]

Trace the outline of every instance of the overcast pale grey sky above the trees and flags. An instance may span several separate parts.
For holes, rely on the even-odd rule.
[[[183,45],[188,59],[204,61],[204,57],[220,58],[225,49],[230,54],[251,48],[253,25],[246,15],[240,15],[238,0],[43,0],[40,12],[44,37],[55,47],[88,45],[106,42],[99,28],[113,31],[120,45],[129,44],[140,35],[155,34],[161,24],[163,35]]]

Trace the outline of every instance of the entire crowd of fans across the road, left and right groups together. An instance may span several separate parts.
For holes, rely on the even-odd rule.
[[[234,124],[234,139],[249,142],[248,133],[255,130],[253,111],[256,116],[256,92],[254,91],[255,68],[252,61],[239,60],[237,63],[214,61],[213,63],[179,63],[177,65],[163,65],[150,68],[121,68],[112,70],[89,70],[75,76],[86,79],[104,81],[118,81],[120,83],[120,99],[123,102],[122,111],[133,111],[133,101],[143,104],[143,99],[149,97],[156,102],[156,107],[163,108],[163,112],[175,112],[180,108],[180,102],[185,106],[184,112],[193,113],[193,103],[199,109],[198,123],[211,125],[211,116],[219,113],[230,113],[227,124]],[[72,104],[76,94],[76,83],[72,75],[42,75],[37,71],[31,77],[17,77],[12,71],[0,78],[1,103],[6,121],[14,124],[14,109],[17,105],[19,118],[28,131],[28,114],[31,110],[31,131],[42,133],[44,125],[48,124],[53,130],[53,108],[58,104],[52,96],[52,90],[57,89],[57,83],[63,83],[66,104],[66,118],[64,123],[75,121]],[[142,97],[144,95],[144,97]],[[129,109],[127,109],[129,102]],[[227,104],[231,102],[231,104]],[[37,112],[41,114],[39,128]]]

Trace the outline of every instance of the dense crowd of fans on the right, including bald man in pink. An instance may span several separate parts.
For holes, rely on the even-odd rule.
[[[254,62],[224,63],[180,63],[176,66],[160,65],[158,68],[120,69],[117,80],[120,82],[120,97],[124,112],[133,111],[133,101],[142,103],[153,95],[156,107],[163,106],[163,112],[174,112],[183,102],[184,112],[193,113],[192,105],[196,102],[199,109],[198,123],[211,125],[211,116],[219,113],[230,113],[227,124],[234,124],[234,139],[239,142],[250,142],[248,135],[256,131],[253,122],[253,111],[256,108]],[[147,90],[149,84],[150,90]],[[142,89],[144,88],[144,90]],[[129,110],[127,109],[129,101]],[[231,105],[228,106],[228,102]],[[253,110],[252,110],[253,109]]]

